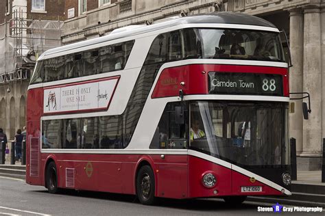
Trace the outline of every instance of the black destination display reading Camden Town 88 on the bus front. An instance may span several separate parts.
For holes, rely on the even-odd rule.
[[[241,72],[208,72],[209,94],[282,96],[282,75]]]

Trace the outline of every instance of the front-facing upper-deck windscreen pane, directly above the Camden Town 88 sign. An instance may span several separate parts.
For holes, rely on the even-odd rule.
[[[199,29],[204,59],[285,62],[278,33],[239,29]]]

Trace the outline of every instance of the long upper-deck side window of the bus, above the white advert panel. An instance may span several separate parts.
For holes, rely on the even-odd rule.
[[[123,70],[134,40],[38,61],[31,84]]]

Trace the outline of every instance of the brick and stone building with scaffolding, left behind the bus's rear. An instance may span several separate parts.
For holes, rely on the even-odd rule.
[[[26,121],[36,58],[61,45],[64,0],[0,1],[0,128],[13,139]]]

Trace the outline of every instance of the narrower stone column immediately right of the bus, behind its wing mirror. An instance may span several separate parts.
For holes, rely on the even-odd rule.
[[[289,69],[290,92],[302,92],[304,57],[304,14],[301,9],[289,10],[290,16],[290,52],[293,66]],[[300,95],[293,95],[300,97]],[[294,108],[289,116],[290,137],[296,138],[297,154],[302,153],[302,101],[291,100]],[[292,106],[292,105],[291,105]]]

